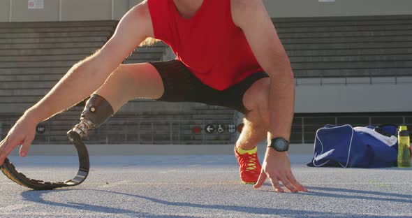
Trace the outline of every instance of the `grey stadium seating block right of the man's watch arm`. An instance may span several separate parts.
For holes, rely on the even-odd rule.
[[[412,75],[412,16],[277,18],[297,78]]]

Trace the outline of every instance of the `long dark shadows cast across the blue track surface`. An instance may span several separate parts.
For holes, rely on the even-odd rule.
[[[334,188],[323,188],[323,187],[309,187],[310,189],[314,190],[322,190],[322,191],[342,191],[342,192],[350,192],[358,190],[352,189],[334,189]],[[350,213],[334,213],[334,212],[316,212],[316,211],[307,211],[307,210],[288,210],[288,209],[277,209],[277,208],[259,208],[259,207],[250,207],[250,206],[237,206],[237,205],[208,205],[208,204],[199,204],[199,203],[189,203],[189,202],[172,202],[172,201],[165,201],[159,198],[152,198],[148,196],[140,196],[136,194],[126,194],[116,191],[107,191],[107,190],[98,190],[98,189],[84,189],[87,191],[96,191],[96,198],[98,198],[98,192],[110,193],[114,195],[120,196],[127,196],[136,198],[135,200],[138,201],[139,199],[144,199],[146,201],[152,201],[152,203],[158,203],[161,205],[166,206],[175,206],[175,207],[189,207],[189,208],[202,208],[202,209],[211,209],[211,210],[226,210],[226,211],[233,211],[233,212],[244,212],[251,215],[278,215],[281,217],[353,217],[357,216]],[[82,191],[82,189],[65,189],[65,190],[54,190],[54,191]],[[173,216],[173,215],[152,215],[147,212],[137,212],[133,210],[124,210],[118,208],[110,208],[105,206],[99,205],[90,205],[86,203],[55,203],[52,201],[44,201],[42,198],[43,194],[47,194],[50,191],[24,191],[22,192],[22,197],[25,201],[31,201],[35,203],[43,203],[45,205],[52,205],[57,207],[64,207],[64,208],[75,208],[78,210],[87,210],[92,212],[105,212],[105,213],[113,213],[113,214],[125,214],[125,215],[133,215],[133,216],[142,216],[142,217],[184,217],[184,216]],[[378,191],[358,191],[360,194],[380,194],[383,196],[388,196],[389,194],[381,193]],[[300,194],[311,194],[313,196],[328,196],[328,197],[335,197],[335,198],[360,198],[360,199],[367,199],[367,200],[380,200],[380,201],[393,201],[393,199],[386,199],[386,198],[371,198],[369,196],[348,196],[344,194],[326,194],[321,192],[311,192],[311,193],[300,193]],[[411,199],[412,196],[408,195],[400,195],[404,198]],[[130,198],[128,198],[130,199]],[[101,198],[98,198],[101,201]],[[402,200],[402,202],[411,202],[411,200]],[[376,215],[361,215],[362,217],[376,217],[376,218],[385,218],[387,216],[376,216]],[[192,217],[192,216],[190,216]],[[407,216],[399,216],[399,217],[407,217]]]

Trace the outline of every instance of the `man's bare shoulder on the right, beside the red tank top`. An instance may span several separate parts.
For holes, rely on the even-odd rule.
[[[230,10],[233,22],[237,27],[242,27],[256,13],[265,13],[262,0],[230,0]]]

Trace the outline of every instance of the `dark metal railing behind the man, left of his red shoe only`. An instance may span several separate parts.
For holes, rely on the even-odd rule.
[[[73,125],[77,120],[73,120]],[[15,123],[15,119],[0,118],[0,136],[3,138]],[[235,143],[238,133],[223,133],[216,130],[206,133],[207,124],[235,124],[233,119],[184,119],[184,120],[142,120],[133,117],[110,119],[97,129],[91,130],[84,140],[97,144],[224,144]],[[36,133],[34,143],[61,144],[68,143],[66,132],[73,125],[59,124],[59,120],[47,120],[41,125],[44,133]],[[236,125],[236,124],[235,124]],[[201,131],[193,131],[199,127]]]

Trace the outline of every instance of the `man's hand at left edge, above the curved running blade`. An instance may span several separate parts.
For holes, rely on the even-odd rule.
[[[25,157],[29,152],[29,147],[36,135],[38,122],[26,113],[17,120],[15,125],[8,131],[6,138],[0,142],[0,166],[4,159],[17,146],[20,147],[20,156]]]

